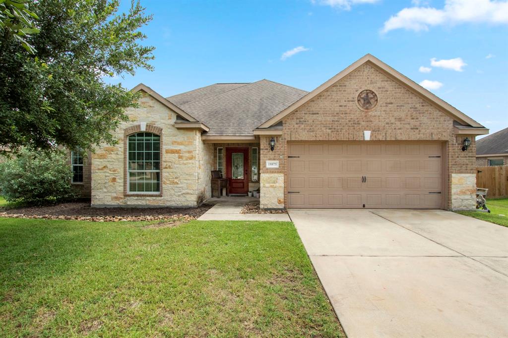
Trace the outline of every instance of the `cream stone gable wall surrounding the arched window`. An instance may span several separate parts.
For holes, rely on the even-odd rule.
[[[140,108],[128,109],[130,122],[115,131],[116,146],[103,145],[92,154],[91,205],[196,207],[210,196],[205,182],[211,164],[210,147],[203,145],[200,132],[174,127],[176,113],[148,94],[140,98]],[[162,129],[161,195],[136,195],[124,191],[124,130],[146,123],[146,131]],[[150,127],[154,126],[153,128]],[[131,130],[129,129],[129,130]],[[209,163],[209,162],[208,162]]]

